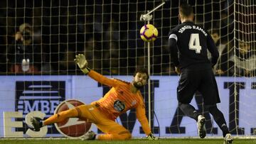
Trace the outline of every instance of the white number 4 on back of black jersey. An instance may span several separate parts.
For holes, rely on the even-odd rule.
[[[191,33],[191,38],[188,43],[189,50],[196,50],[196,53],[201,52],[201,45],[198,33]]]

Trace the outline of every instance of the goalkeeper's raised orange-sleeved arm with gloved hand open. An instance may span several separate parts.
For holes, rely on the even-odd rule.
[[[82,55],[82,54],[75,55],[75,62],[78,64],[78,67],[80,67],[80,70],[84,74],[87,74],[92,79],[95,79],[95,81],[111,87],[116,87],[117,82],[114,79],[109,79],[107,77],[104,77],[102,74],[99,74],[94,70],[90,70],[90,68],[87,67],[87,60],[85,59],[85,55]]]

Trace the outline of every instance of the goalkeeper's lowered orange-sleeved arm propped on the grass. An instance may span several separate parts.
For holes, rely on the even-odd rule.
[[[139,123],[142,125],[142,129],[144,133],[147,135],[147,139],[149,140],[156,140],[157,138],[154,137],[153,133],[151,133],[151,129],[149,128],[149,121],[146,118],[146,111],[145,111],[145,105],[143,102],[139,104],[136,108],[136,116],[139,120]]]

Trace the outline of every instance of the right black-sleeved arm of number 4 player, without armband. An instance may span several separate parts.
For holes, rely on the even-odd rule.
[[[214,66],[217,63],[217,60],[219,57],[219,52],[218,52],[218,49],[213,41],[213,38],[210,36],[209,33],[206,38],[207,38],[207,48],[208,48],[210,54],[212,55],[210,62],[212,64],[212,66]]]

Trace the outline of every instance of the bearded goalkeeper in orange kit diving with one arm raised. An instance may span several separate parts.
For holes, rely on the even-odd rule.
[[[124,82],[119,79],[108,79],[87,67],[85,55],[79,54],[75,57],[75,62],[83,73],[101,84],[112,87],[112,89],[98,101],[94,101],[89,105],[80,105],[74,109],[56,113],[45,121],[40,121],[35,117],[31,118],[35,131],[40,131],[40,128],[43,126],[64,121],[66,118],[77,117],[87,118],[88,121],[95,123],[97,128],[105,133],[96,135],[93,131],[89,131],[82,136],[83,140],[129,140],[132,138],[132,134],[124,128],[124,126],[116,123],[115,119],[129,109],[136,109],[137,118],[142,124],[142,128],[144,133],[146,133],[147,138],[149,140],[155,140],[156,138],[149,128],[149,122],[145,114],[144,100],[139,91],[139,89],[146,85],[146,82],[149,79],[147,71],[142,69],[134,72],[134,79],[132,82]]]

